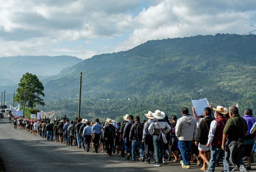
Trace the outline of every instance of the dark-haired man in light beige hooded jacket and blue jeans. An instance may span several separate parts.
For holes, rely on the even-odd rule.
[[[192,140],[194,140],[197,135],[197,121],[188,113],[186,107],[181,109],[181,115],[182,117],[178,119],[175,126],[175,134],[179,139],[179,147],[183,159],[180,164],[182,168],[191,168],[188,154],[191,150]]]

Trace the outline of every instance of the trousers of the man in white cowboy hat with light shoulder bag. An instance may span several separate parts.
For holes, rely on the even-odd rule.
[[[163,157],[163,139],[162,136],[160,136],[160,139],[158,140],[159,135],[153,135],[153,145],[155,149],[155,160],[157,164],[160,164],[162,162]]]

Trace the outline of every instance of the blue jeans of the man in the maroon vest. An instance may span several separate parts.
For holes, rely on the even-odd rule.
[[[227,172],[227,165],[225,162],[225,152],[221,149],[221,146],[211,146],[211,158],[209,160],[208,164],[208,171],[214,172],[215,166],[217,163],[218,156],[221,156],[221,159],[223,160],[223,166],[224,166],[224,172]]]

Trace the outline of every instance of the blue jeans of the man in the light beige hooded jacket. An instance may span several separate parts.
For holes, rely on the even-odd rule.
[[[192,146],[192,140],[191,141],[183,141],[179,140],[179,146],[180,146],[180,151],[181,151],[181,156],[183,159],[183,164],[184,165],[189,165],[189,154],[191,151],[191,146]]]

